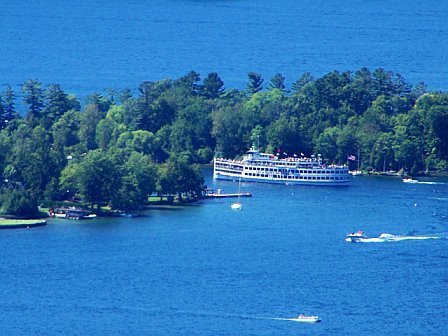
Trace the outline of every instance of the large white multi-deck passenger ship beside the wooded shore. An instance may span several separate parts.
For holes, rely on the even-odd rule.
[[[346,165],[326,165],[320,155],[288,157],[261,153],[251,148],[242,160],[215,158],[213,178],[245,182],[282,183],[286,185],[347,185],[350,174]]]

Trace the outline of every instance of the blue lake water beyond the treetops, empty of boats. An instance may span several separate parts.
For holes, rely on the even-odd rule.
[[[383,67],[448,90],[448,2],[0,0],[0,85],[38,78],[85,97],[144,80]],[[2,90],[3,91],[3,90]]]

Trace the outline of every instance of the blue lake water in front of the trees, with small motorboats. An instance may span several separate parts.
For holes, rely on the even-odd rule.
[[[426,182],[242,183],[239,212],[207,200],[2,230],[2,334],[447,335],[448,180]],[[359,229],[441,238],[344,241]],[[287,320],[300,312],[322,322]]]

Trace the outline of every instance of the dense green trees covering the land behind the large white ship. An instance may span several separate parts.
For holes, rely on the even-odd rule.
[[[290,89],[281,74],[263,83],[250,72],[244,90],[226,89],[217,73],[201,80],[191,71],[143,82],[136,94],[93,93],[84,107],[58,84],[8,86],[0,95],[2,212],[33,216],[38,204],[73,199],[131,210],[156,194],[195,198],[204,189],[200,164],[257,143],[328,163],[360,155],[367,171],[447,170],[446,93],[381,68],[304,73]],[[26,111],[16,109],[19,95]]]

